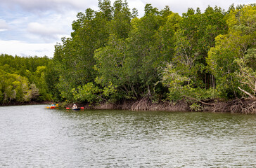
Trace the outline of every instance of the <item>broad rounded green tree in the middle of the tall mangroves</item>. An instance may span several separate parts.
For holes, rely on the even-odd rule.
[[[111,99],[152,96],[154,84],[159,80],[158,68],[169,57],[162,56],[162,34],[159,32],[165,24],[162,16],[150,4],[145,10],[143,18],[134,18],[129,23],[128,38],[112,34],[107,45],[96,50],[95,67],[99,73],[96,81],[113,91]]]

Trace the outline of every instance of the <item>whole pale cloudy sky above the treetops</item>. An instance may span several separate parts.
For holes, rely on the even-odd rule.
[[[112,3],[114,0],[112,0]],[[186,13],[197,7],[204,11],[208,5],[227,10],[234,3],[250,4],[255,0],[127,0],[129,8],[143,16],[146,3],[174,13]],[[78,12],[87,8],[98,10],[98,0],[0,0],[0,54],[53,57],[54,45],[61,37],[69,37],[71,24]]]

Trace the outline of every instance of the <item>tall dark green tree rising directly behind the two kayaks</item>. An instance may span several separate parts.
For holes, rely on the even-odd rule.
[[[121,4],[124,10],[125,3],[120,1],[115,3],[116,6],[116,20],[112,23],[123,28],[122,24],[118,24],[118,3]],[[104,47],[110,35],[109,25],[113,20],[113,7],[108,0],[99,1],[99,11],[87,9],[85,15],[78,13],[77,20],[72,23],[71,38],[63,38],[63,44],[57,44],[53,58],[53,64],[58,71],[59,79],[56,87],[63,99],[71,102],[75,100],[72,92],[82,85],[94,82],[96,78],[96,71],[94,70],[94,52],[98,48]],[[126,10],[125,10],[126,11]],[[127,20],[122,20],[125,25]],[[113,29],[113,31],[120,31],[120,36],[126,36],[126,31],[122,29]],[[126,27],[125,27],[126,28]],[[127,27],[129,29],[129,27]],[[126,32],[126,33],[125,33]]]

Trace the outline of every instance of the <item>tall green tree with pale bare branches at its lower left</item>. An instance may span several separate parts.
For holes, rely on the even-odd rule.
[[[210,47],[215,45],[215,36],[226,32],[223,10],[209,6],[205,13],[199,8],[195,13],[193,8],[188,8],[182,19],[177,15],[169,15],[169,19],[177,22],[167,27],[173,34],[167,38],[172,46],[167,55],[172,55],[172,61],[162,73],[162,83],[169,87],[169,99],[213,98],[212,90],[205,94],[206,89],[215,87],[215,78],[207,72],[205,59]]]

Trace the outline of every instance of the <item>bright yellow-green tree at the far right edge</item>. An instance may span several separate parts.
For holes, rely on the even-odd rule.
[[[207,64],[222,97],[240,97],[242,92],[249,92],[246,90],[251,85],[245,87],[245,83],[255,78],[255,64],[249,63],[254,58],[255,9],[249,5],[231,10],[227,15],[228,34],[217,36],[215,48],[208,53]],[[250,74],[250,79],[245,73]]]

